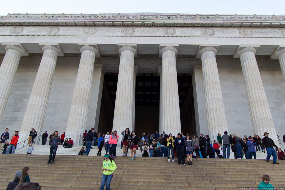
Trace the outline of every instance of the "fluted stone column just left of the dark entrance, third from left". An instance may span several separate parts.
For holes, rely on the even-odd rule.
[[[66,136],[73,140],[74,145],[80,144],[81,136],[86,129],[95,55],[99,55],[97,44],[80,45],[80,52],[81,58],[66,127]]]

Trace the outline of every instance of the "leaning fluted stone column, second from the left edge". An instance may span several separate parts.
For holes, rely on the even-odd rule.
[[[58,56],[64,55],[57,43],[39,45],[42,46],[42,51],[44,53],[28,101],[18,142],[28,139],[32,128],[37,132],[41,131],[44,116],[46,114],[46,106],[48,104],[56,60]],[[40,135],[41,134],[38,134],[38,136]]]

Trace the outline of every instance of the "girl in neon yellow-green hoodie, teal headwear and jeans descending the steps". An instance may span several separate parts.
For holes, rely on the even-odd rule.
[[[102,176],[100,190],[104,190],[105,184],[106,184],[106,190],[110,190],[110,183],[116,168],[117,166],[113,158],[111,158],[108,154],[105,154],[103,167],[102,167],[103,176]]]

